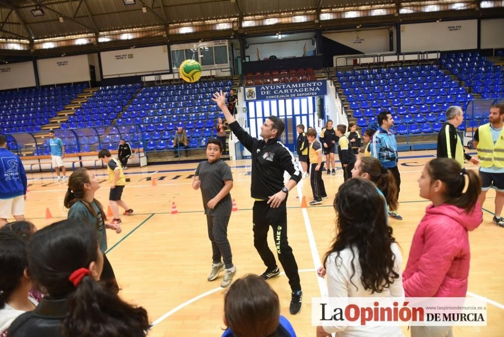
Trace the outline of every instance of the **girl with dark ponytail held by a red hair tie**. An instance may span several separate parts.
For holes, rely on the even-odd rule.
[[[97,281],[103,255],[96,231],[62,220],[35,233],[28,243],[28,270],[46,297],[19,316],[9,337],[141,337],[147,312],[123,302]]]

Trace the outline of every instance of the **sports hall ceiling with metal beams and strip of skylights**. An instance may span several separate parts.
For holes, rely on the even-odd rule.
[[[456,3],[455,0],[437,0],[434,3]],[[166,43],[210,38],[230,38],[240,35],[274,33],[278,31],[302,31],[328,28],[355,28],[357,25],[372,26],[395,24],[406,21],[421,21],[447,18],[476,18],[502,16],[502,8],[480,9],[481,0],[460,0],[471,4],[463,10],[446,10],[430,13],[400,14],[404,4],[428,4],[418,0],[0,0],[0,39],[29,41],[31,51],[37,41],[66,35],[91,34],[92,45],[61,46],[58,51],[85,51],[116,48],[120,46]],[[132,5],[126,5],[132,3]],[[447,5],[448,6],[448,5]],[[392,15],[351,17],[334,20],[317,20],[321,13],[342,10],[367,10],[389,8]],[[448,8],[448,7],[447,7]],[[41,10],[41,11],[38,11]],[[311,15],[305,22],[279,21],[274,25],[244,26],[245,20],[263,20],[268,15]],[[38,14],[38,16],[36,16]],[[187,23],[225,22],[227,29],[202,28],[188,34],[175,33],[175,28]],[[144,34],[136,40],[100,43],[98,37],[104,32],[124,29],[155,27],[158,34]],[[110,41],[110,40],[109,40]],[[43,50],[35,50],[44,54]],[[14,51],[7,51],[14,52]],[[54,50],[52,50],[54,52]],[[2,50],[0,53],[5,54]],[[26,55],[26,50],[17,51]]]

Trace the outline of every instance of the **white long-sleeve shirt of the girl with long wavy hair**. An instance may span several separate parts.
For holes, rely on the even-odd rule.
[[[326,262],[326,280],[329,297],[404,298],[401,270],[401,251],[399,250],[399,246],[396,243],[393,243],[391,245],[391,248],[396,257],[394,271],[399,274],[399,277],[394,280],[394,283],[392,283],[389,288],[385,288],[381,293],[373,294],[371,294],[370,290],[364,290],[364,286],[361,283],[360,276],[362,275],[362,269],[360,268],[359,254],[355,248],[355,257],[353,258],[355,274],[353,276],[352,250],[350,247],[342,250],[340,252],[340,256],[337,259],[337,253],[332,253],[331,255],[329,255]],[[331,322],[334,323],[335,321]],[[324,330],[326,330],[326,332],[328,333],[338,332],[338,337],[403,336],[400,326],[341,326],[326,324],[324,324],[323,326]]]

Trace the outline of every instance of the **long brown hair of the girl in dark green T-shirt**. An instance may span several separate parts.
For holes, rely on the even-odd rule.
[[[65,200],[63,201],[63,204],[65,205],[66,208],[70,209],[73,204],[75,204],[77,201],[82,202],[88,211],[93,214],[94,217],[98,216],[96,214],[95,209],[93,206],[86,200],[84,199],[84,184],[89,184],[89,176],[88,176],[88,169],[85,167],[80,167],[77,168],[72,174],[70,175],[70,178],[68,179],[68,190],[67,194],[65,195]],[[102,204],[96,200],[93,199],[93,202],[98,205],[98,208],[100,209],[100,212],[103,216],[103,220],[107,219],[107,213],[103,211],[103,206]]]

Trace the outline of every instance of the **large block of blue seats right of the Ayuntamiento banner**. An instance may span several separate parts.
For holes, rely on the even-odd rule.
[[[355,69],[336,75],[342,98],[349,103],[348,113],[363,129],[386,110],[392,113],[398,134],[438,132],[449,106],[464,106],[473,99],[437,65]]]

